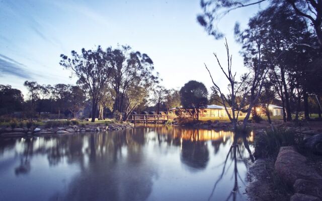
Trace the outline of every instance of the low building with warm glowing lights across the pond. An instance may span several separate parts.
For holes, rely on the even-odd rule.
[[[271,116],[282,116],[282,110],[283,108],[280,106],[275,106],[275,105],[269,105],[269,111]],[[227,108],[229,114],[231,115],[231,109]],[[257,108],[256,111],[260,115],[265,115],[265,111],[262,110],[261,108]],[[188,116],[186,113],[186,110],[180,107],[172,108],[169,110],[169,115],[172,116]],[[239,116],[244,116],[245,114],[240,112]],[[218,105],[208,105],[205,108],[200,109],[199,117],[204,117],[204,118],[220,118],[220,117],[228,117],[227,113],[225,111],[225,108],[223,106],[218,106]]]

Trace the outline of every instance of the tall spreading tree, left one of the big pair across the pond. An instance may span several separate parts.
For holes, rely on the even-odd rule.
[[[82,49],[82,54],[71,51],[71,58],[61,54],[60,65],[72,71],[78,77],[77,83],[89,92],[92,100],[92,122],[95,122],[96,111],[102,91],[108,84],[112,66],[109,50],[104,52],[101,46],[97,50]]]

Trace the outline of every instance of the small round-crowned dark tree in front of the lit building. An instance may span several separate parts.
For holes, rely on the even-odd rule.
[[[202,82],[191,80],[180,89],[181,104],[193,119],[199,120],[201,108],[207,106],[208,91]]]

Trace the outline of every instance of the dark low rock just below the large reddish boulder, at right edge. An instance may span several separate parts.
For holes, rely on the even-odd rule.
[[[297,179],[293,185],[297,193],[309,194],[322,198],[322,184],[305,179]]]

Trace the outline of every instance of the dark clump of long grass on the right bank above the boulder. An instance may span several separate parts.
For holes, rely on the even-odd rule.
[[[266,131],[255,137],[254,156],[256,158],[267,158],[269,156],[277,156],[281,146],[291,146],[296,142],[294,133],[277,130]]]

